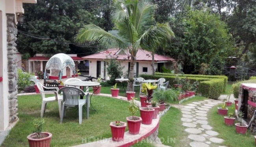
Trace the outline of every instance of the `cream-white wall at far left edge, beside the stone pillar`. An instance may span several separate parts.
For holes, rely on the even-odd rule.
[[[3,77],[0,82],[0,130],[5,130],[9,125],[6,1],[0,0],[0,76]]]

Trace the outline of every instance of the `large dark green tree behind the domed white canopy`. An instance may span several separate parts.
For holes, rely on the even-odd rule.
[[[67,53],[76,47],[70,43],[78,29],[83,24],[98,22],[96,15],[83,9],[85,1],[37,0],[37,4],[24,4],[25,22],[18,26],[18,50],[33,56]]]

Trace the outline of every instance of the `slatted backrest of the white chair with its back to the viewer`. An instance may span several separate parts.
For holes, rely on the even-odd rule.
[[[67,106],[75,106],[78,105],[78,100],[81,96],[85,95],[85,93],[76,87],[63,87],[59,89],[59,94],[63,93],[63,104]]]

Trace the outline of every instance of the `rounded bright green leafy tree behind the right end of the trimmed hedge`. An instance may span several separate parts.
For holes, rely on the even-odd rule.
[[[176,38],[168,55],[183,60],[184,73],[198,73],[201,63],[209,64],[211,58],[221,54],[225,58],[232,51],[227,25],[215,14],[187,8],[171,22]]]

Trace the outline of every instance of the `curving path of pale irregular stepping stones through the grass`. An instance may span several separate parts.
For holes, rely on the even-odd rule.
[[[204,100],[192,102],[181,108],[182,125],[186,127],[185,131],[189,134],[189,145],[191,147],[217,147],[219,143],[224,142],[218,138],[219,133],[212,131],[208,125],[207,113],[214,105],[221,102],[215,100]]]

